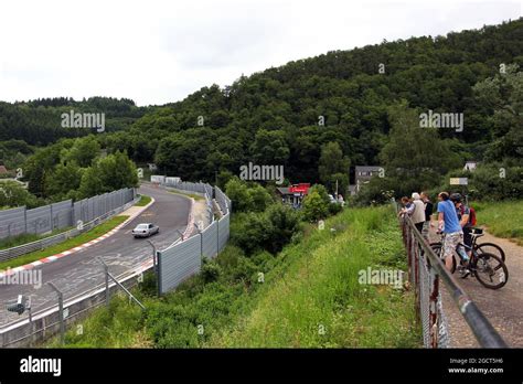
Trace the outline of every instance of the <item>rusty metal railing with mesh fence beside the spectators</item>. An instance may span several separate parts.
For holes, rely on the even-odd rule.
[[[490,321],[434,253],[428,241],[417,231],[410,217],[404,216],[401,223],[408,256],[408,277],[415,289],[416,310],[421,320],[425,346],[449,346],[439,289],[442,281],[478,343],[483,348],[508,348]]]

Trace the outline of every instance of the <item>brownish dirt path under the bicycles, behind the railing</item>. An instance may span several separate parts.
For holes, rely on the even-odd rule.
[[[474,277],[459,278],[459,284],[490,320],[509,346],[523,348],[523,247],[485,233],[478,243],[495,243],[503,248],[509,281],[499,289],[487,289]],[[458,275],[455,275],[458,277]],[[444,288],[444,309],[449,322],[452,348],[479,348],[472,331]]]

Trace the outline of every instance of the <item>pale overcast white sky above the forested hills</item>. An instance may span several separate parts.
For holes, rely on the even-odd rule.
[[[0,100],[181,100],[289,61],[522,15],[523,0],[20,0],[0,6]]]

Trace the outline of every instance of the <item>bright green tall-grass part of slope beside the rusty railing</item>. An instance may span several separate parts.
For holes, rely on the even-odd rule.
[[[288,269],[281,277],[277,270],[268,276],[252,311],[206,345],[417,346],[412,294],[357,281],[359,270],[367,267],[406,267],[397,223],[392,215],[383,220],[384,212],[345,212],[327,226],[342,228],[349,223],[344,232],[316,232],[302,244],[287,247],[281,256],[289,259]]]

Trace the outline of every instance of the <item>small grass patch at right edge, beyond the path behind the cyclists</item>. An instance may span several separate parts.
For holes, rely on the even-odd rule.
[[[471,203],[478,225],[487,226],[489,233],[506,237],[523,245],[523,200]]]

